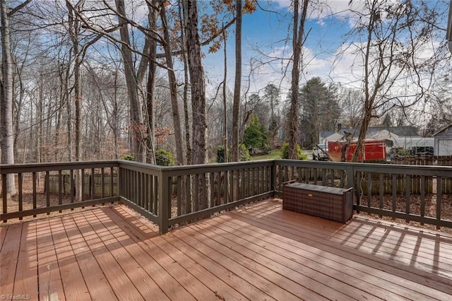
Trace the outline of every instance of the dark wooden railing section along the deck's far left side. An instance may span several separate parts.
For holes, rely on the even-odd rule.
[[[51,213],[64,209],[92,206],[98,203],[118,201],[116,161],[81,163],[40,163],[0,165],[1,213],[0,220],[22,219],[40,213]],[[75,175],[81,173],[81,200],[76,200]],[[95,175],[99,174],[99,183]],[[6,196],[6,177],[16,177],[17,195],[13,199]],[[67,177],[66,177],[67,176]],[[51,177],[56,181],[52,183]],[[65,182],[65,180],[67,182]],[[115,177],[117,181],[117,177]],[[56,187],[51,187],[54,184]],[[30,193],[24,193],[28,185]],[[53,188],[53,189],[52,189]],[[52,192],[55,191],[55,192]]]

